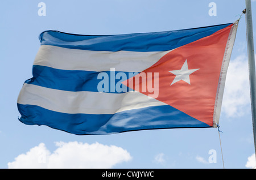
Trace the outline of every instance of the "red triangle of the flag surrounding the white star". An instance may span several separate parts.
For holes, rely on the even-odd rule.
[[[212,126],[222,59],[231,27],[229,25],[210,36],[172,50],[123,84]],[[180,80],[171,85],[176,75],[169,71],[180,70],[186,59],[189,70],[199,70],[189,75],[190,84]],[[152,81],[150,74],[153,76]],[[135,79],[144,75],[147,80],[141,78],[135,83]],[[149,92],[149,89],[144,91],[142,87],[147,87],[147,84],[150,87],[150,83],[154,85],[157,80],[159,88],[155,88],[154,93]]]

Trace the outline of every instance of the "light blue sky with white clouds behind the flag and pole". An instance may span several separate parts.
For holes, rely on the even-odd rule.
[[[38,15],[39,2],[46,4],[46,16]],[[208,13],[210,2],[216,3],[216,16]],[[255,36],[255,0],[251,4]],[[223,168],[216,128],[78,136],[47,126],[24,125],[18,120],[16,100],[23,82],[32,77],[32,63],[40,46],[38,36],[43,31],[84,35],[171,31],[232,23],[244,8],[241,0],[2,2],[0,168]],[[220,126],[225,168],[253,168],[244,15],[230,59]],[[216,162],[210,163],[212,151],[216,152]]]

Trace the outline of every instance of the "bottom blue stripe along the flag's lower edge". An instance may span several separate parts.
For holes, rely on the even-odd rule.
[[[210,127],[169,105],[127,110],[115,114],[67,114],[35,105],[18,104],[26,125],[46,125],[77,135],[106,135],[157,128]]]

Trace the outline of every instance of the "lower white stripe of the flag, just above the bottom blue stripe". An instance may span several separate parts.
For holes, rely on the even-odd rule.
[[[70,92],[24,83],[18,103],[61,113],[114,114],[125,110],[166,105],[139,92]]]

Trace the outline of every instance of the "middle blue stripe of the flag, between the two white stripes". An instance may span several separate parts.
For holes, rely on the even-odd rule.
[[[121,72],[120,78],[115,78],[119,71],[80,71],[59,70],[47,66],[34,65],[32,69],[33,78],[26,80],[27,84],[40,85],[46,88],[59,89],[63,91],[92,91],[123,93],[131,91],[130,88],[121,84],[124,80],[136,75],[137,72]],[[108,78],[108,79],[106,79]],[[104,85],[107,85],[105,87]],[[98,88],[98,85],[100,88]],[[123,89],[122,89],[123,88]]]

